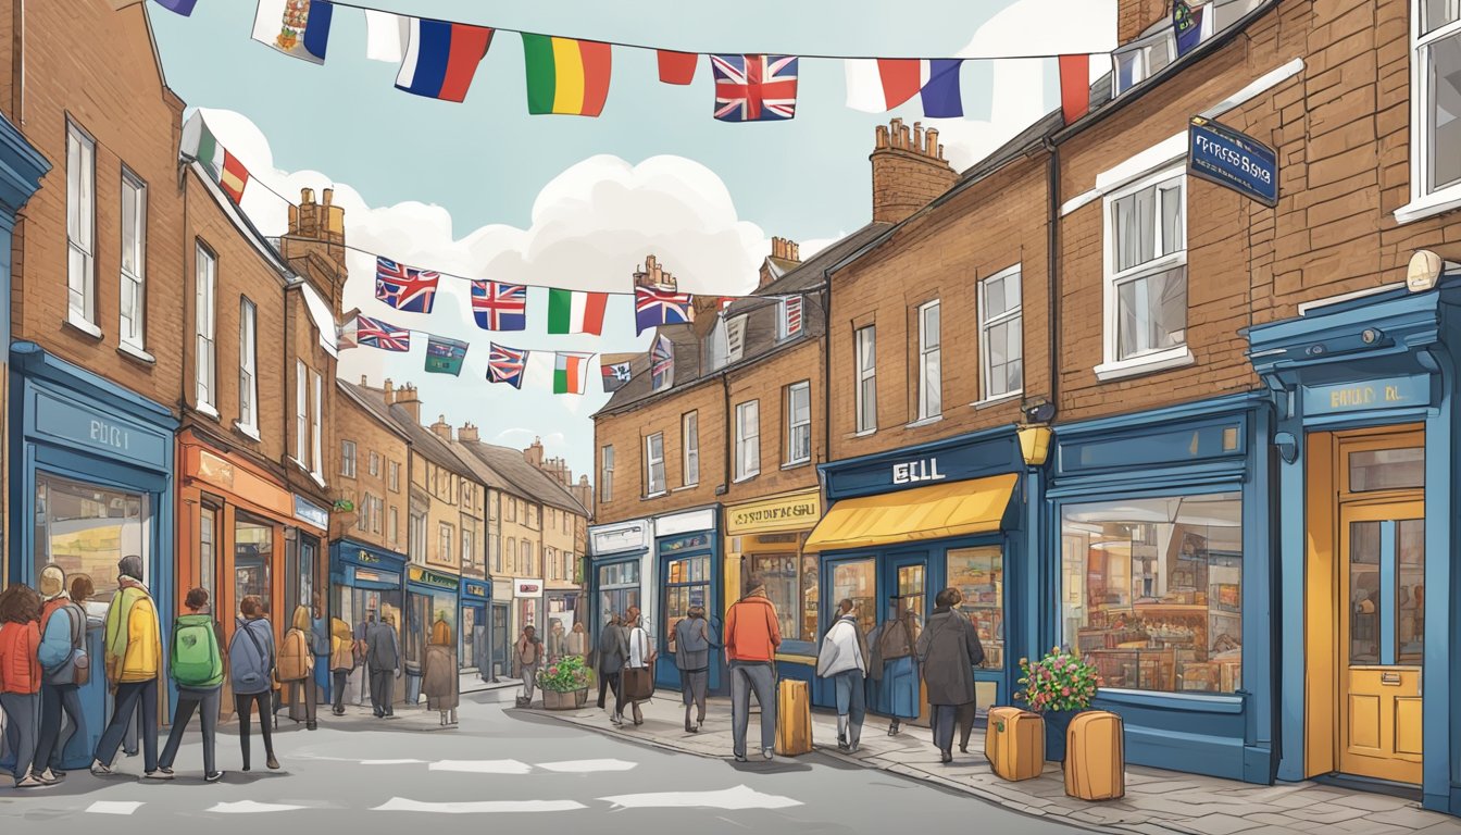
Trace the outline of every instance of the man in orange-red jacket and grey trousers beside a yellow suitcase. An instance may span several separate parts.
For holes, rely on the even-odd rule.
[[[782,627],[766,597],[766,582],[752,578],[745,597],[726,613],[726,662],[730,665],[730,731],[736,762],[745,762],[745,730],[751,722],[751,692],[761,705],[761,756],[776,746],[776,648]]]

